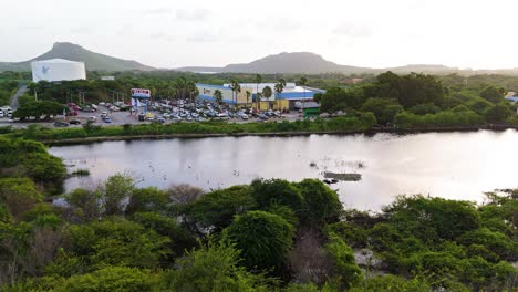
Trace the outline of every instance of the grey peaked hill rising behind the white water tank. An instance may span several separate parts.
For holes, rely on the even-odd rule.
[[[0,63],[0,71],[30,71],[31,62],[48,59],[66,59],[84,62],[89,71],[151,71],[152,66],[141,64],[132,60],[123,60],[105,54],[95,53],[83,46],[70,42],[56,42],[52,49],[34,59],[24,62]]]

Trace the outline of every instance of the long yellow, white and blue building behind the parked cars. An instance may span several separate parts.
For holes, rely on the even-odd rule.
[[[242,106],[252,106],[260,109],[293,109],[296,104],[301,101],[311,102],[315,93],[325,93],[325,91],[312,88],[308,86],[297,86],[294,83],[287,83],[281,94],[276,94],[276,83],[240,83],[241,92],[237,94],[237,102],[230,84],[224,85],[209,85],[196,84],[199,92],[199,98],[207,101],[215,101],[214,92],[221,91],[224,103]],[[265,87],[269,86],[272,95],[267,98],[262,96],[259,101],[257,93],[262,92]],[[247,98],[247,92],[250,97]]]

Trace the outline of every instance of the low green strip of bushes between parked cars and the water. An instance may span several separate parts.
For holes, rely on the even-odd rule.
[[[20,137],[35,140],[60,140],[71,138],[87,138],[102,136],[144,136],[144,135],[180,135],[180,134],[255,134],[255,133],[323,133],[323,132],[356,132],[366,131],[374,125],[371,113],[334,118],[317,118],[315,121],[267,122],[267,123],[227,123],[211,121],[203,123],[174,124],[139,124],[123,126],[99,126],[94,123],[82,127],[49,128],[40,125],[29,125],[27,128],[2,127],[1,133],[9,137]]]

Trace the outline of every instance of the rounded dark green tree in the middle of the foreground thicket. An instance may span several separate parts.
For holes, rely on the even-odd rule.
[[[279,269],[291,249],[294,229],[282,217],[265,211],[237,216],[225,238],[241,250],[249,269]]]

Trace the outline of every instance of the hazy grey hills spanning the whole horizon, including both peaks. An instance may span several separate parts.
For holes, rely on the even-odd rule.
[[[152,71],[157,70],[144,65],[133,60],[123,60],[96,52],[89,51],[83,46],[70,42],[56,42],[52,49],[34,59],[24,62],[0,62],[1,71],[30,71],[30,64],[35,60],[66,59],[71,61],[82,61],[89,71]],[[411,72],[427,74],[450,74],[458,73],[463,75],[474,74],[505,74],[518,75],[518,69],[504,70],[460,70],[445,65],[412,64],[397,67],[372,69],[341,65],[328,61],[321,55],[310,52],[293,52],[268,55],[250,63],[228,64],[222,67],[215,66],[186,66],[175,69],[176,71],[189,72],[216,72],[216,73],[343,73],[343,74],[379,74],[392,71],[397,74]]]

